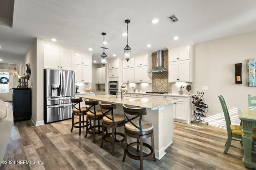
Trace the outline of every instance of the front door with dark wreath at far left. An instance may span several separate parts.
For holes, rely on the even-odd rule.
[[[0,70],[0,99],[12,101],[12,70]]]

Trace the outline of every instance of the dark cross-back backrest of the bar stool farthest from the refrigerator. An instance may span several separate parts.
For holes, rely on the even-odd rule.
[[[132,123],[132,125],[134,125],[134,127],[136,127],[137,129],[140,130],[140,135],[142,135],[142,125],[141,125],[141,121],[142,121],[142,115],[146,115],[147,114],[147,110],[144,107],[128,107],[126,105],[123,104],[123,109],[124,109],[124,116],[125,119],[127,121],[125,121],[125,123]],[[133,115],[132,118],[129,118],[128,115]],[[137,125],[135,125],[132,120],[136,119],[139,117],[139,127]]]

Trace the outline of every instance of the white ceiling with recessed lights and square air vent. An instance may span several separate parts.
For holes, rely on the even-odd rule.
[[[170,23],[166,17],[171,14],[180,21]],[[157,24],[151,23],[154,18],[159,19]],[[255,31],[256,0],[15,0],[12,27],[0,25],[0,59],[19,64],[38,37],[93,53],[92,60],[100,64],[102,32],[108,58],[122,56],[126,19],[131,20],[132,53],[154,52],[187,41]]]

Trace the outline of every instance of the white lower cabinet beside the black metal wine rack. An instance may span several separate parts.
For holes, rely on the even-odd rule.
[[[175,99],[178,100],[176,104],[173,105],[173,118],[174,121],[189,124],[192,119],[192,104],[190,97],[173,97],[166,96],[165,99]]]

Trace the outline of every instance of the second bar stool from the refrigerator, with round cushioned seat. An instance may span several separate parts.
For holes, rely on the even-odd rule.
[[[102,112],[101,110],[96,110],[95,106],[98,105],[97,100],[91,100],[87,101],[84,100],[87,108],[87,116],[86,116],[86,134],[93,134],[93,143],[95,143],[95,135],[102,133],[100,131],[100,128],[102,128],[102,125],[100,125],[100,120],[102,120]],[[96,120],[98,120],[98,125],[96,125]],[[90,123],[89,123],[90,121]],[[92,126],[92,121],[93,121],[93,126]],[[90,127],[89,127],[90,126]],[[98,127],[98,131],[96,131],[96,128]]]

